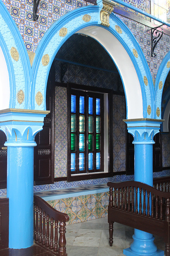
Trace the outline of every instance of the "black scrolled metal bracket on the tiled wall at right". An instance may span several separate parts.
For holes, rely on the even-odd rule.
[[[151,28],[151,57],[156,57],[156,53],[154,52],[154,48],[156,44],[158,44],[160,38],[163,36],[164,31],[161,28],[164,24],[156,27],[156,28]],[[160,28],[160,30],[158,30]]]

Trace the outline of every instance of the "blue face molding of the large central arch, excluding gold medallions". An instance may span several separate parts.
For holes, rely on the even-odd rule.
[[[51,68],[51,64],[57,51],[64,44],[64,42],[72,36],[76,31],[85,28],[87,26],[101,26],[99,23],[99,6],[87,6],[83,8],[76,9],[63,17],[60,18],[57,22],[55,22],[48,30],[45,32],[41,42],[39,43],[37,50],[35,52],[35,58],[33,61],[33,84],[32,84],[32,107],[33,109],[45,110],[45,95],[46,95],[46,86],[47,79],[49,75],[49,71]],[[89,14],[91,16],[90,22],[84,22],[82,17],[84,14]],[[122,34],[118,34],[115,30],[115,25],[118,25],[122,29]],[[63,27],[67,28],[67,34],[64,37],[59,36],[59,30]],[[119,18],[117,18],[114,14],[110,15],[110,26],[106,28],[109,30],[123,45],[127,53],[129,54],[133,65],[135,66],[137,75],[139,77],[139,82],[141,85],[141,92],[143,97],[143,117],[144,118],[155,118],[155,108],[154,108],[154,86],[152,82],[152,77],[150,74],[150,70],[145,59],[145,56],[136,41],[133,34],[130,32],[129,28],[123,24]],[[133,55],[133,48],[138,52],[138,58]],[[47,66],[43,66],[41,59],[42,57],[48,54],[49,55],[49,64]],[[148,79],[148,85],[146,86],[144,83],[144,76]],[[43,95],[43,103],[38,106],[35,102],[35,95],[37,92],[41,92]],[[126,94],[126,92],[125,92]],[[151,114],[147,113],[147,106],[151,107]]]

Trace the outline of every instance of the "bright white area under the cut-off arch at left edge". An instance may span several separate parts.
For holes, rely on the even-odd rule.
[[[9,108],[10,80],[2,48],[0,47],[0,110]]]

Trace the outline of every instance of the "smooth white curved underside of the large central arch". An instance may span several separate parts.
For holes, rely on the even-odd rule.
[[[143,100],[141,86],[133,62],[123,45],[108,30],[89,26],[77,33],[86,34],[96,39],[113,58],[125,86],[128,106],[128,119],[143,118]]]

